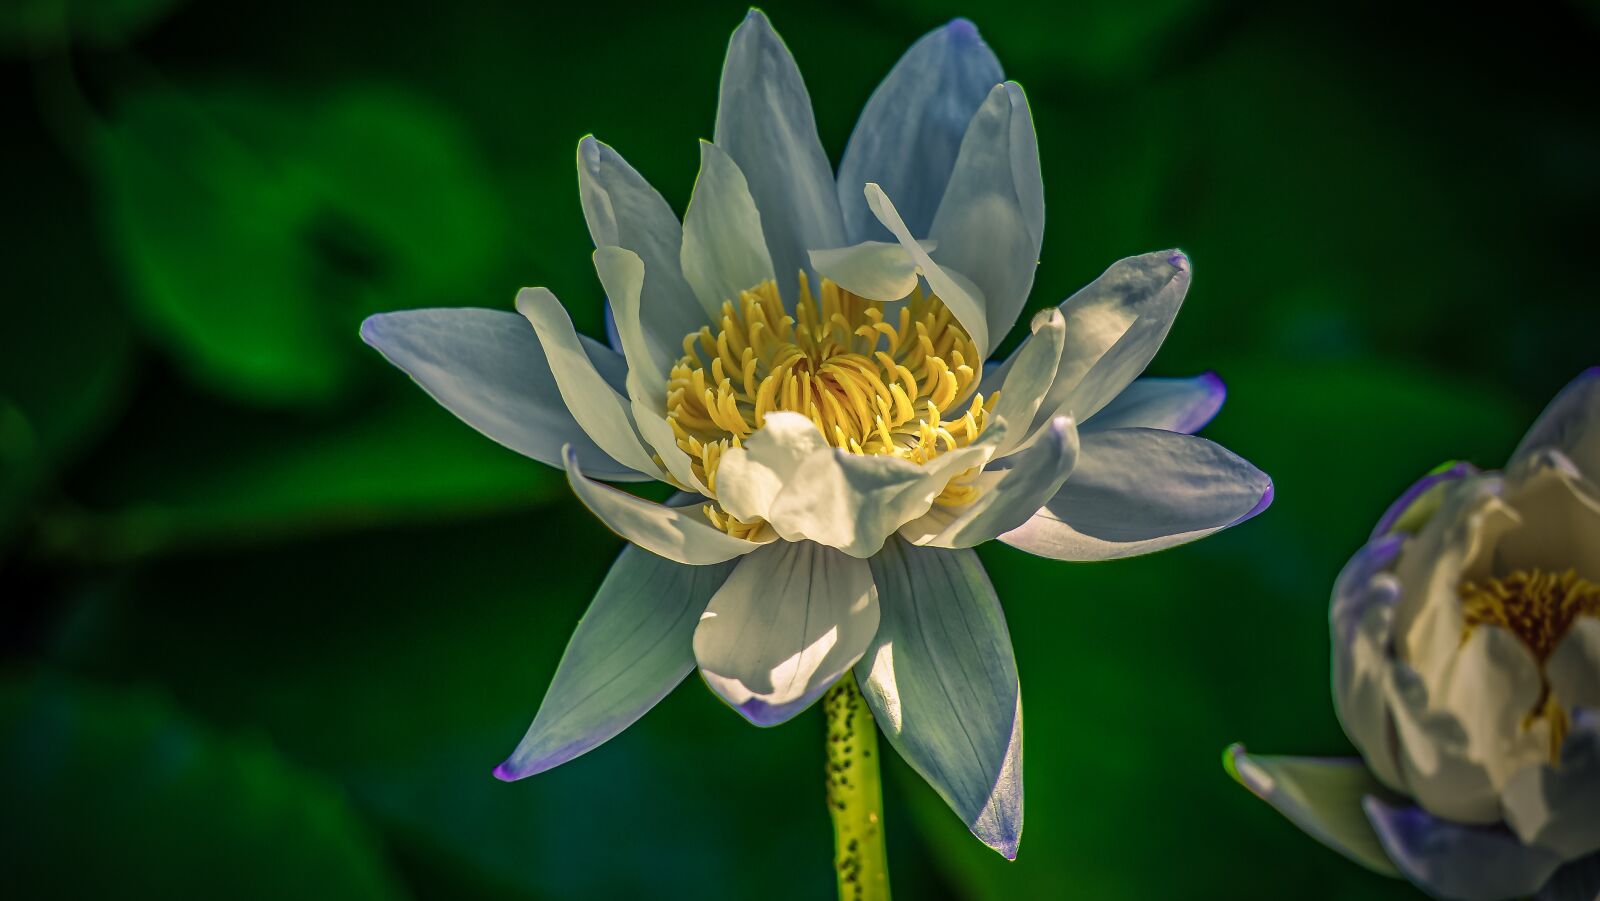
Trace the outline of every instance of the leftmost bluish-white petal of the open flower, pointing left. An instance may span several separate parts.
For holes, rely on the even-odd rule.
[[[378,314],[362,339],[405,370],[445,410],[507,448],[562,466],[570,443],[597,477],[654,479],[611,458],[573,419],[528,320],[501,310],[429,309]],[[590,366],[619,371],[618,355],[579,339]]]

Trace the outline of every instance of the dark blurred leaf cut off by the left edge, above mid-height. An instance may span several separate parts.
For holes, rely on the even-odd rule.
[[[88,198],[22,101],[0,99],[0,115],[19,126],[6,144],[19,178],[0,206],[0,544],[42,487],[109,426],[133,362],[133,325],[93,246]]]

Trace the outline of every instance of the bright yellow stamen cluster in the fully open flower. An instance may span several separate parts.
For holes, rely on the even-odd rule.
[[[742,446],[773,411],[806,416],[850,453],[918,464],[971,443],[989,422],[997,394],[974,390],[982,355],[938,296],[918,288],[885,304],[827,278],[819,294],[802,274],[790,314],[778,285],[763,282],[683,338],[667,376],[667,421],[714,498],[723,451]],[[939,503],[976,496],[957,479]],[[715,506],[706,512],[731,535],[762,536],[765,523],[741,523]]]

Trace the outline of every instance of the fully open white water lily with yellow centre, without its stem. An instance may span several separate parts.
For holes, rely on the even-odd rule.
[[[632,543],[496,773],[571,760],[694,669],[774,725],[854,667],[890,743],[1014,856],[1021,695],[971,547],[1125,557],[1270,498],[1266,475],[1190,435],[1222,403],[1216,376],[1136,381],[1189,261],[1117,262],[986,368],[1032,286],[1045,203],[1027,101],[962,19],[872,94],[837,181],[760,13],[728,48],[682,224],[594,138],[578,179],[611,347],[542,288],[517,296],[522,315],[362,328],[467,424],[563,467]],[[602,483],[651,479],[677,499]]]

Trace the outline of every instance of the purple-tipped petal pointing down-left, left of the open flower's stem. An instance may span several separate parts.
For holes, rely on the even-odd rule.
[[[624,547],[578,621],[528,735],[494,775],[509,783],[565,763],[666,698],[694,669],[694,626],[731,570]]]

